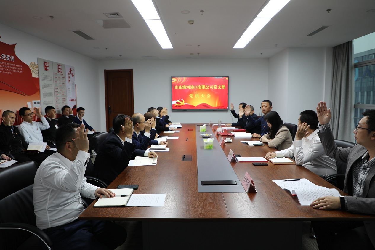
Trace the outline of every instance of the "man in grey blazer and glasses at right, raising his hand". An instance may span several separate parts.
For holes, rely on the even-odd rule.
[[[311,203],[321,210],[338,209],[375,214],[375,109],[362,113],[353,131],[353,148],[337,147],[329,126],[331,110],[318,103],[319,137],[327,156],[347,162],[344,192],[349,196],[326,196]],[[375,249],[375,221],[312,222],[320,249]]]

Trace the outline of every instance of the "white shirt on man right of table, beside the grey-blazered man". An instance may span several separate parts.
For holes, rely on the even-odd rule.
[[[293,145],[276,151],[276,157],[295,157],[296,165],[302,165],[320,177],[337,174],[335,159],[324,153],[323,145],[318,136],[318,129],[308,137],[293,141]]]

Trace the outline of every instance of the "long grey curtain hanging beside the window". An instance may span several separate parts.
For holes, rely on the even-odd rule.
[[[335,139],[354,142],[353,41],[333,48],[331,127]]]

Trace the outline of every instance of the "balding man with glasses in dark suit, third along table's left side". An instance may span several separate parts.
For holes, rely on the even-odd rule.
[[[154,140],[156,135],[156,121],[154,118],[146,119],[144,115],[135,113],[132,115],[134,131],[132,136],[132,143],[136,145],[136,149],[146,150],[148,145],[168,145],[166,141]],[[141,135],[141,131],[144,131],[144,135]]]

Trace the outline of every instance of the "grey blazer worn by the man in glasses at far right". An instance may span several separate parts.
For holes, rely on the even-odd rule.
[[[332,131],[328,130],[318,133],[327,156],[333,159],[346,162],[347,171],[345,173],[344,192],[350,196],[347,199],[348,211],[353,213],[375,214],[375,168],[370,169],[369,175],[365,180],[365,188],[362,197],[353,197],[353,167],[357,165],[362,156],[366,153],[366,148],[356,144],[353,148],[340,148],[335,144]],[[375,221],[365,220],[366,231],[375,247]]]

